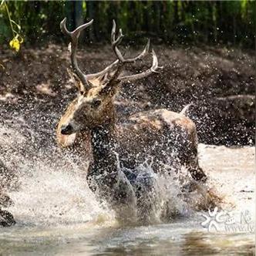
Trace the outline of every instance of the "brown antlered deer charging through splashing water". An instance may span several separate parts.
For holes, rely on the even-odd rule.
[[[198,164],[197,128],[183,113],[154,109],[135,113],[123,123],[116,120],[114,100],[120,86],[153,76],[161,68],[156,52],[150,51],[150,41],[139,55],[125,58],[119,49],[124,35],[122,29],[116,35],[113,20],[110,41],[116,60],[100,72],[86,74],[79,68],[76,52],[80,32],[92,24],[93,20],[70,32],[66,18],[60,23],[62,33],[70,39],[72,71],[68,72],[78,96],[59,120],[57,143],[91,154],[86,173],[89,187],[112,205],[123,203],[128,197],[123,188],[125,184],[120,183],[120,166],[129,170],[125,173],[126,183],[132,184],[140,174],[137,167],[148,159],[152,159],[150,167],[154,173],[171,175],[184,166],[192,179],[204,183],[207,176]],[[153,59],[149,69],[123,75],[126,65],[141,61],[149,54]],[[145,183],[149,180],[143,179]]]

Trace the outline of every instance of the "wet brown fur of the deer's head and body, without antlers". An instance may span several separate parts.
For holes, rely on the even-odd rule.
[[[128,192],[122,189],[123,185],[116,187],[116,153],[122,167],[136,170],[140,163],[152,158],[152,168],[157,173],[171,175],[185,166],[194,180],[204,183],[207,177],[198,165],[197,129],[193,121],[182,113],[157,109],[136,113],[126,122],[116,123],[113,101],[117,88],[117,85],[106,87],[99,83],[79,95],[68,106],[57,128],[57,141],[62,147],[78,147],[89,159],[87,179],[91,189],[98,188],[99,196],[109,204],[125,204]],[[101,101],[99,107],[93,107],[95,100]],[[67,123],[76,124],[77,131],[63,135],[62,126]],[[73,136],[72,140],[70,136]],[[217,199],[200,186],[194,186],[195,190],[202,198],[196,207],[198,210],[211,207]]]

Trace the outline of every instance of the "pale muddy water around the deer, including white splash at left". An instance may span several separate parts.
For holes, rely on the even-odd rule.
[[[121,226],[70,168],[52,172],[56,166],[42,162],[31,174],[31,165],[22,163],[19,189],[10,193],[17,224],[0,228],[0,254],[253,254],[254,148],[200,144],[199,153],[200,165],[224,197],[223,209],[216,209],[222,219],[210,230],[210,223],[202,225],[209,213],[195,211],[168,224]],[[180,204],[173,200],[173,207],[184,211]]]

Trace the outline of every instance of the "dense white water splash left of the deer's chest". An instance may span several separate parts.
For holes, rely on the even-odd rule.
[[[10,193],[15,203],[10,211],[18,223],[72,224],[112,217],[99,205],[82,177],[72,172],[41,164],[32,176],[20,177],[20,183],[19,190]]]

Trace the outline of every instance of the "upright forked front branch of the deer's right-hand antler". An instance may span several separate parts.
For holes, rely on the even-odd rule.
[[[117,59],[123,64],[125,63],[130,63],[130,62],[135,62],[138,59],[143,59],[143,57],[147,56],[149,49],[150,49],[150,40],[147,41],[147,45],[143,49],[143,52],[141,52],[138,56],[136,56],[133,59],[124,59],[122,53],[120,52],[120,49],[117,48],[118,45],[120,45],[120,42],[123,39],[123,33],[122,29],[119,30],[117,39],[116,39],[116,22],[113,20],[113,27],[111,31],[111,45],[113,47],[113,50],[116,54]]]

